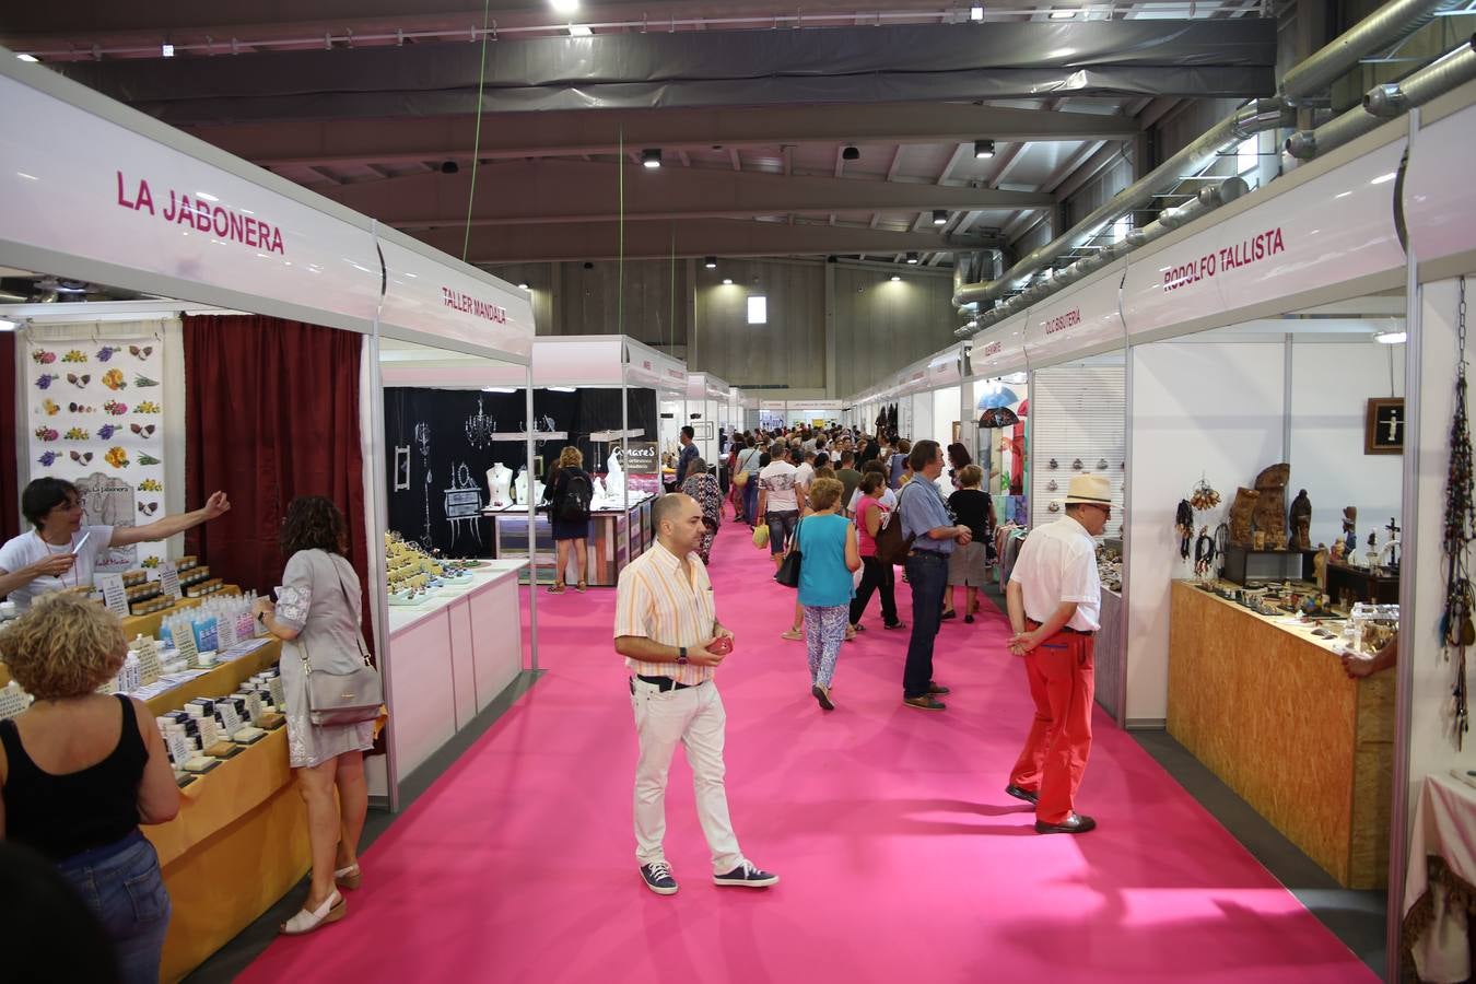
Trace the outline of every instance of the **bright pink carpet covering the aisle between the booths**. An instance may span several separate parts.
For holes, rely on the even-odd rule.
[[[1030,705],[987,603],[977,624],[943,626],[946,713],[900,705],[906,633],[883,631],[872,602],[825,714],[803,643],[779,639],[794,593],[770,572],[726,524],[711,574],[738,634],[720,671],[729,803],[779,885],[711,884],[677,755],[682,890],[645,890],[614,590],[540,595],[549,673],[366,853],[344,922],[277,940],[241,980],[1377,980],[1100,713],[1079,805],[1101,828],[1036,835],[1002,791]]]

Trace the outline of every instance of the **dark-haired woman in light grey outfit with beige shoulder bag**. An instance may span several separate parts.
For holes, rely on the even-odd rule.
[[[342,680],[368,664],[359,575],[344,556],[345,543],[347,522],[338,506],[322,496],[294,499],[282,522],[282,555],[288,561],[277,603],[263,597],[254,608],[266,630],[283,640],[288,764],[307,804],[313,854],[303,910],[280,926],[288,935],[342,919],[347,907],[338,890],[359,888],[360,879],[359,838],[369,810],[363,754],[373,746],[375,721],[314,723],[335,714],[313,680],[319,674]]]

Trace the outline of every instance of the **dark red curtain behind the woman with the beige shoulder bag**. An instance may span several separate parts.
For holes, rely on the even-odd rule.
[[[215,490],[230,496],[230,512],[187,534],[213,575],[270,592],[282,583],[288,503],[326,496],[348,518],[348,559],[368,615],[359,351],[354,332],[261,316],[184,317],[186,494],[190,507]]]

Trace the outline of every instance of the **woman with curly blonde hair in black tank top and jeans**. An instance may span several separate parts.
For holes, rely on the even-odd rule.
[[[97,915],[118,980],[155,984],[170,921],[159,859],[139,832],[179,811],[148,708],[97,687],[123,665],[118,617],[49,595],[0,634],[0,659],[35,704],[0,721],[0,834],[50,859]]]

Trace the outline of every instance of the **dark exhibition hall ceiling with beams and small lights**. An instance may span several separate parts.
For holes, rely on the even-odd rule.
[[[10,4],[0,44],[472,263],[948,266],[1170,114],[1271,94],[1275,25],[1258,0],[81,0]]]

